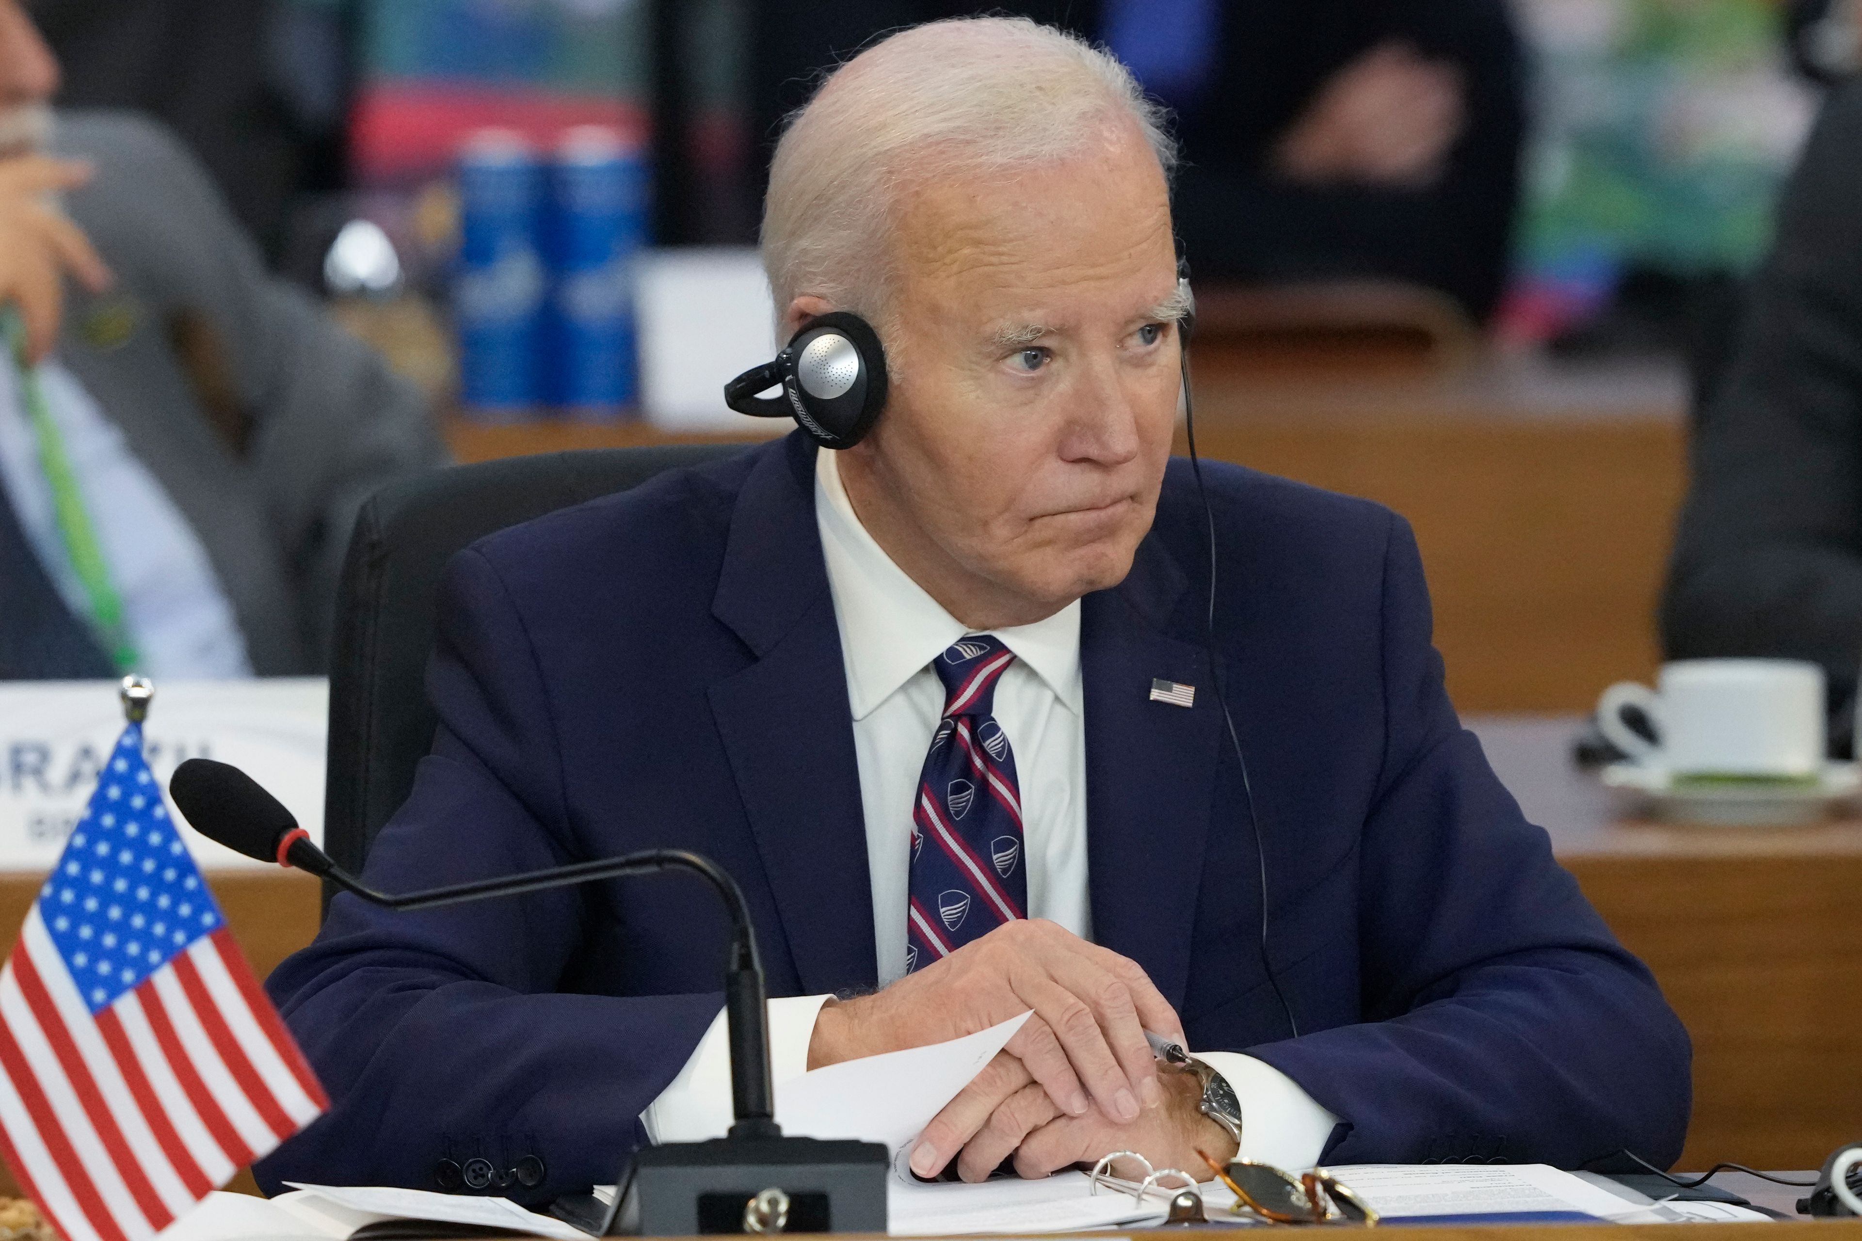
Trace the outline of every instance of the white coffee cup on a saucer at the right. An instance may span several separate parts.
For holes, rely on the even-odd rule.
[[[1797,659],[1681,659],[1661,692],[1618,681],[1598,700],[1598,727],[1631,759],[1680,776],[1815,776],[1823,770],[1823,668]],[[1624,724],[1640,707],[1650,742]]]

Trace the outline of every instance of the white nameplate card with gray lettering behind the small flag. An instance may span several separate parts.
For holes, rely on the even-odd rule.
[[[158,681],[143,748],[168,780],[186,759],[242,768],[290,807],[311,839],[324,835],[324,739],[330,681]],[[0,871],[48,871],[78,822],[97,774],[123,733],[115,681],[0,683]],[[175,804],[168,804],[175,813]],[[259,867],[175,824],[203,869]]]

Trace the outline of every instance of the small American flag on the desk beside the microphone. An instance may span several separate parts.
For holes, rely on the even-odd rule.
[[[0,969],[0,1155],[65,1241],[140,1241],[326,1107],[130,724]]]

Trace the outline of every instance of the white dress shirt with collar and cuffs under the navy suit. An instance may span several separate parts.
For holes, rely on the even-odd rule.
[[[944,685],[931,661],[970,633],[873,541],[847,500],[838,454],[816,458],[816,523],[834,595],[847,672],[853,748],[866,815],[879,984],[905,975],[911,821]],[[1086,711],[1080,687],[1080,603],[1033,625],[992,629],[1015,653],[996,681],[992,714],[1015,754],[1028,858],[1028,915],[1093,936],[1086,854]],[[808,1040],[827,995],[769,1001],[771,1079],[808,1068]],[[1242,1157],[1307,1168],[1337,1118],[1277,1068],[1240,1053],[1201,1053],[1242,1101]],[[641,1116],[655,1142],[719,1137],[730,1128],[724,1014],[711,1021],[680,1075]]]

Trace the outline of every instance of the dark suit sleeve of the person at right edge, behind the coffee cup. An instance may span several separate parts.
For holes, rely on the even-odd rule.
[[[1737,355],[1693,443],[1672,659],[1862,659],[1862,86],[1830,99],[1784,195]]]

